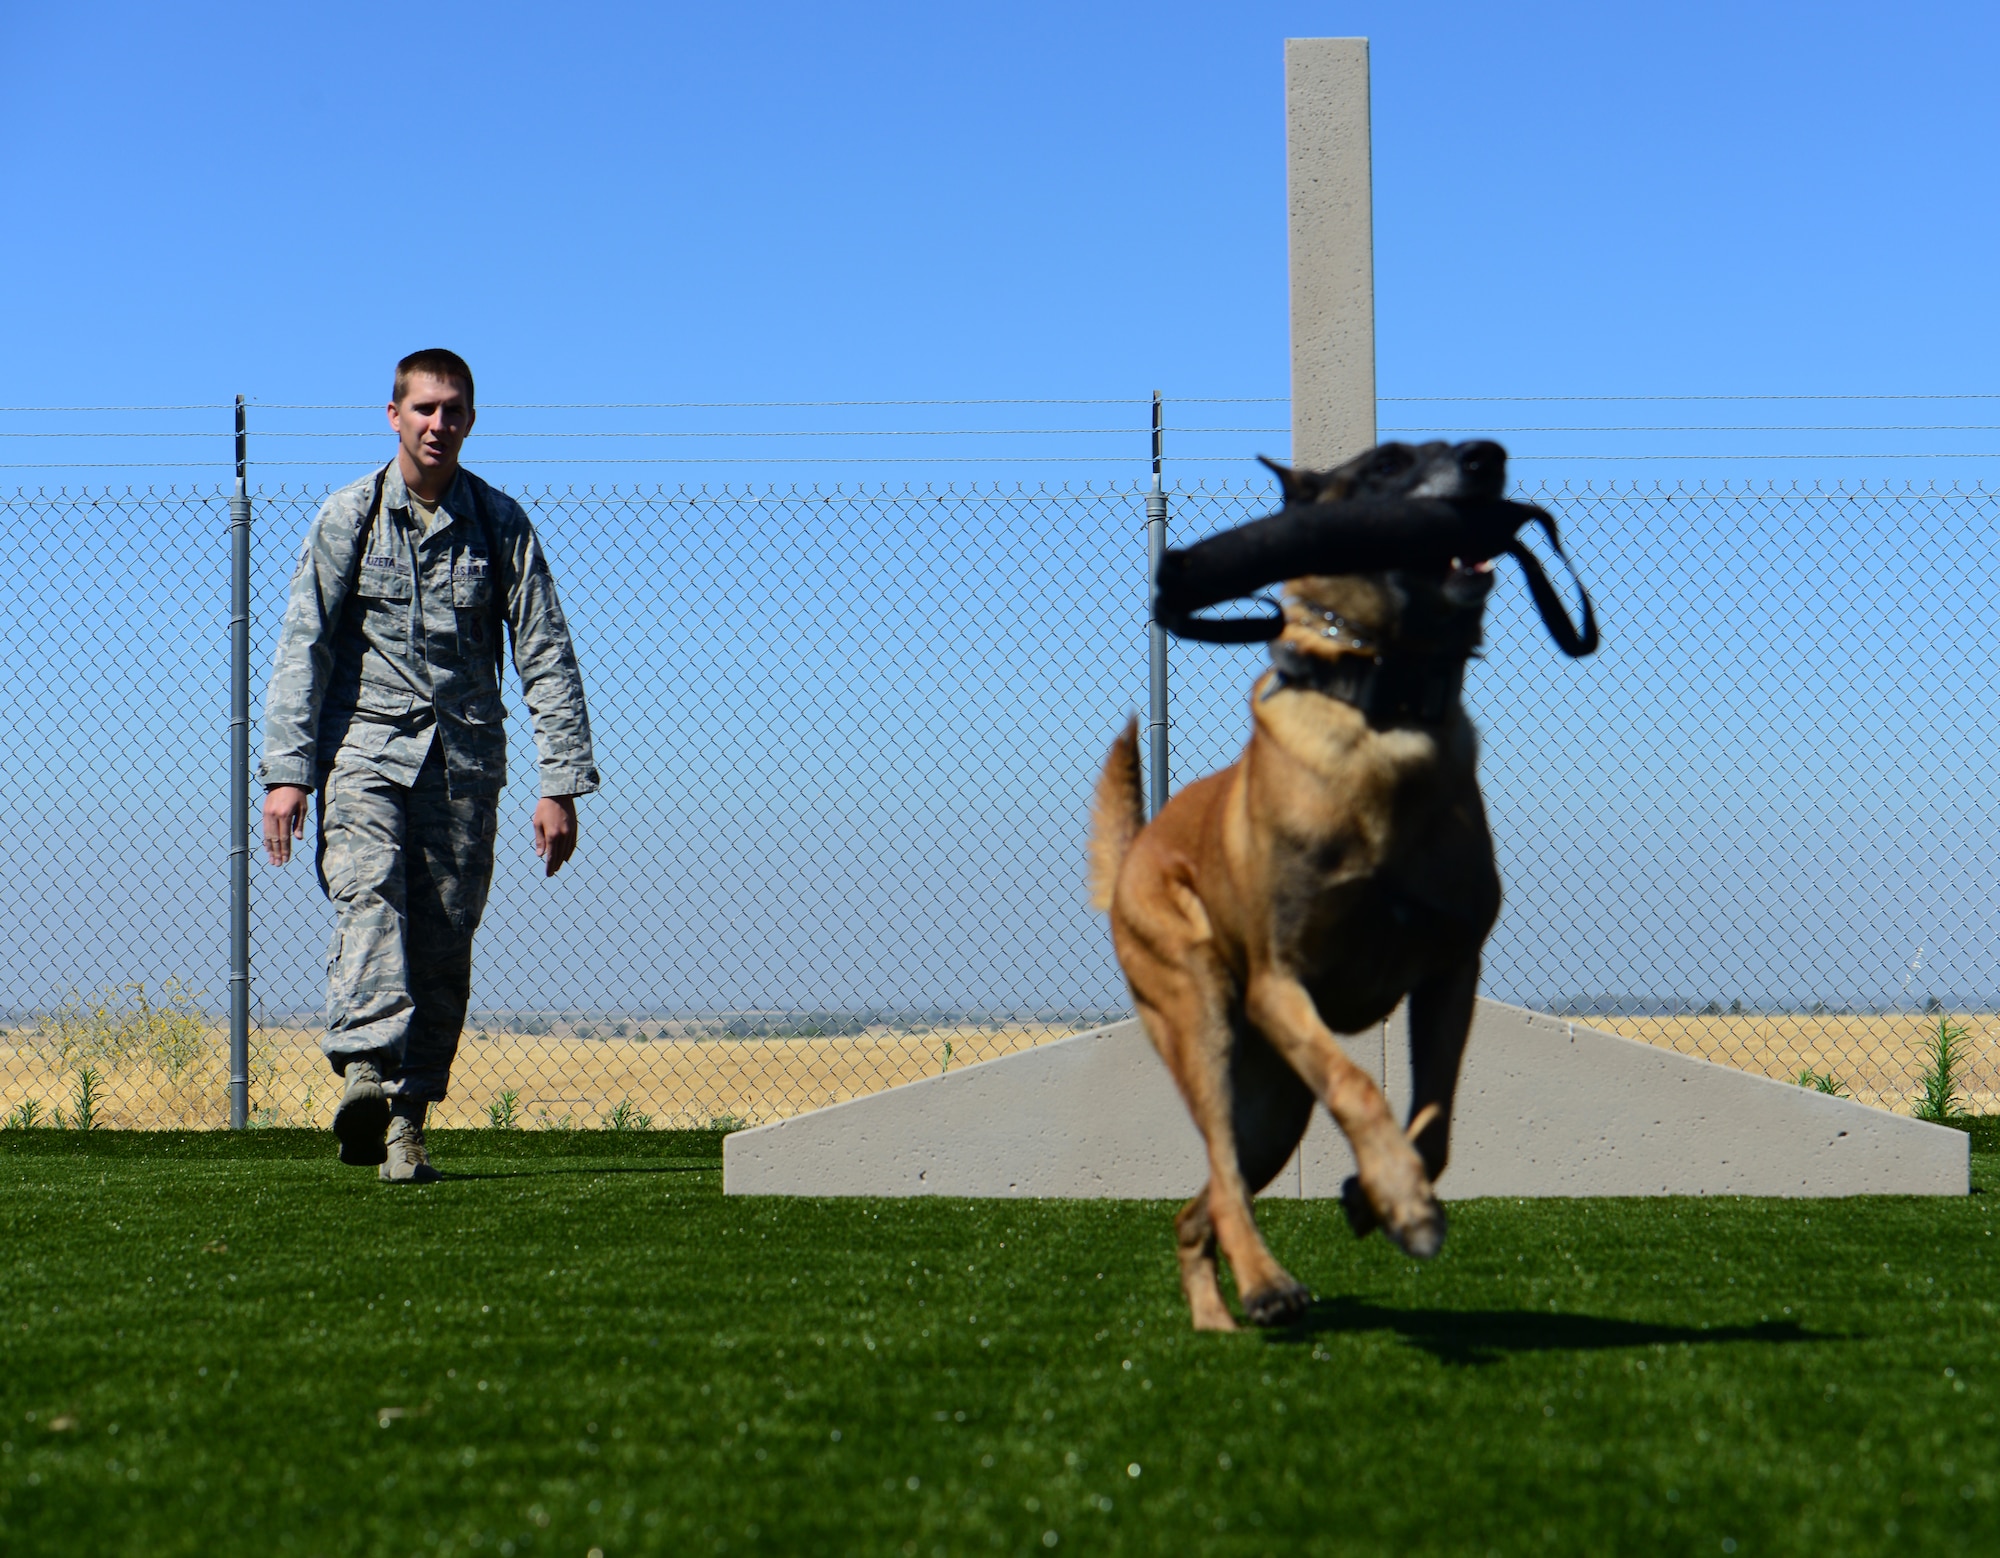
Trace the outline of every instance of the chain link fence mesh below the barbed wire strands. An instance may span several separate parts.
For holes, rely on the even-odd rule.
[[[554,880],[514,782],[444,1124],[766,1120],[1112,1020],[1084,898],[1146,702],[1144,492],[520,492],[606,786]],[[1262,484],[1174,492],[1192,540]],[[1604,650],[1516,580],[1468,676],[1506,908],[1486,992],[1908,1112],[1940,1024],[2000,1112],[2000,494],[1550,486]],[[262,694],[318,492],[256,496]],[[220,1126],[228,500],[16,494],[0,600],[0,1110]],[[1506,572],[1506,564],[1502,564]],[[1176,644],[1176,782],[1230,762],[1260,650]],[[262,710],[254,710],[262,720]],[[326,1124],[332,916],[252,868],[252,1120]]]

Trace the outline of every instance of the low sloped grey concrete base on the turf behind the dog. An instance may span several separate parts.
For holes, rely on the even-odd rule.
[[[1398,1116],[1402,1014],[1344,1040]],[[1266,1196],[1338,1196],[1326,1110]],[[1200,1132],[1138,1022],[966,1066],[722,1142],[732,1196],[1184,1200]],[[1482,1000],[1438,1190],[1470,1196],[1962,1196],[1964,1132]]]

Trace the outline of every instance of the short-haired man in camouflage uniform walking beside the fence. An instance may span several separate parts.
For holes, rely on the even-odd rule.
[[[576,848],[574,796],[598,788],[584,680],[534,526],[458,466],[472,418],[462,358],[396,364],[396,460],[312,522],[264,702],[272,864],[290,860],[320,792],[320,888],[338,916],[322,1048],[346,1078],[340,1162],[380,1164],[388,1182],[438,1178],[424,1112],[450,1082],[492,882],[504,634],[534,716],[548,876]]]

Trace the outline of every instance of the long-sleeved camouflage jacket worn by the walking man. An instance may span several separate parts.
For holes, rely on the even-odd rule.
[[[382,482],[380,506],[370,502]],[[506,784],[502,624],[544,796],[598,788],[584,678],[520,504],[460,470],[418,532],[390,464],[340,488],[306,532],[264,698],[264,786],[316,788],[334,762],[414,784],[434,740],[454,796]]]

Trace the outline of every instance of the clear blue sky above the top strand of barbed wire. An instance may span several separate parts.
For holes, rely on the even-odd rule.
[[[1282,396],[1314,34],[1384,394],[1992,386],[1992,6],[82,2],[0,8],[0,400]]]

